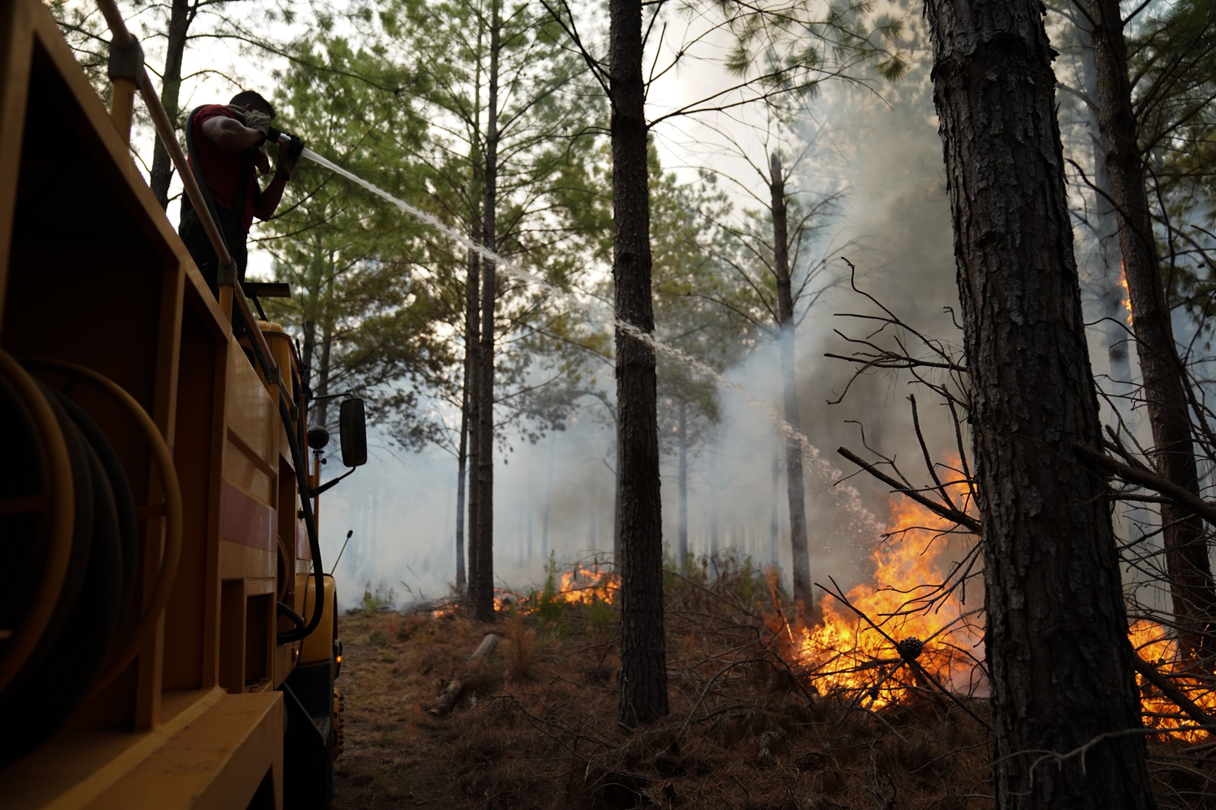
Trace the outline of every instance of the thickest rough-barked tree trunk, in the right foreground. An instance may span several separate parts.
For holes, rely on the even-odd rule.
[[[1155,806],[1038,0],[928,0],[974,406],[1002,809]],[[1111,735],[1086,761],[1045,760]],[[1037,765],[1037,766],[1036,766]]]

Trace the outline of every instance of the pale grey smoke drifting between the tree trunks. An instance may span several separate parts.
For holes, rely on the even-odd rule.
[[[961,341],[944,311],[947,306],[957,311],[957,292],[928,64],[918,63],[902,83],[884,86],[882,99],[843,85],[829,86],[811,113],[817,122],[815,130],[803,135],[812,146],[794,184],[809,193],[845,192],[817,249],[831,257],[846,255],[858,268],[857,285],[908,324],[935,337]],[[854,423],[860,422],[871,446],[896,456],[907,465],[910,476],[923,478],[906,377],[865,376],[852,384],[843,404],[828,404],[851,376],[849,364],[823,358],[824,351],[849,353],[833,330],[865,336],[872,328],[834,313],[876,311],[850,288],[844,261],[832,258],[828,269],[838,285],[806,314],[798,330],[803,429],[824,460],[846,474],[852,469],[835,455],[835,448],[843,444],[865,455]],[[779,410],[775,343],[761,342],[725,376]],[[945,461],[953,448],[952,427],[935,403],[922,399],[921,405],[929,446],[940,454],[934,460]],[[731,549],[764,566],[773,561],[776,546],[776,562],[788,576],[783,440],[771,420],[736,393],[719,392],[719,410],[720,422],[700,444],[689,448],[689,550],[702,555]],[[499,584],[523,589],[541,581],[548,552],[561,562],[610,552],[615,445],[603,406],[584,400],[568,429],[536,444],[513,437],[506,440],[511,446],[496,452],[495,468]],[[372,456],[368,466],[336,488],[321,508],[322,549],[328,558],[337,553],[345,530],[355,531],[337,569],[342,603],[358,602],[365,583],[395,587],[399,604],[446,594],[455,579],[455,459],[438,449],[415,455],[387,445],[373,449]],[[826,584],[831,575],[845,587],[867,579],[868,556],[878,538],[857,531],[843,508],[839,488],[816,474],[812,463],[806,467],[812,578]],[[674,555],[679,533],[674,454],[664,457],[662,472],[663,538]],[[865,474],[850,484],[861,490],[879,522],[885,521],[886,491]]]

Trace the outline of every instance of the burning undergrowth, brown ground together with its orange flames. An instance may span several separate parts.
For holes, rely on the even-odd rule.
[[[883,585],[829,583],[810,623],[748,559],[669,570],[671,714],[632,733],[617,725],[603,561],[500,594],[492,625],[458,601],[344,618],[337,806],[992,806],[974,539],[913,501],[891,513]],[[473,656],[489,634],[496,649]],[[1182,722],[1143,693],[1149,722]],[[439,711],[443,694],[456,699]],[[1209,806],[1205,741],[1150,741],[1162,806]]]

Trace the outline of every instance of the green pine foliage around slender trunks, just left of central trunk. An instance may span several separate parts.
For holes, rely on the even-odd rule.
[[[418,105],[432,125],[413,156],[424,176],[423,207],[456,230],[480,240],[489,164],[486,105],[491,66],[489,10],[472,0],[381,6],[385,34],[427,77]],[[589,89],[586,66],[565,47],[564,34],[540,5],[503,9],[497,54],[495,249],[569,289],[587,271],[586,221],[591,201],[603,196],[593,174],[598,152],[580,135],[603,117]],[[465,332],[463,248],[429,235],[416,261],[432,268],[449,302],[446,320]],[[519,431],[535,441],[563,429],[582,387],[584,358],[565,338],[579,331],[576,313],[544,288],[500,272],[496,283],[495,387],[499,433]],[[536,379],[545,381],[536,384]],[[449,379],[462,382],[452,369]],[[450,401],[461,398],[449,394]]]

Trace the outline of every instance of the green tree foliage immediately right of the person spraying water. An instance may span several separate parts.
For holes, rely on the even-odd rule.
[[[280,125],[409,198],[420,181],[409,157],[426,122],[416,105],[381,88],[409,84],[412,74],[343,38],[302,40],[291,52],[275,96]],[[300,336],[313,388],[362,395],[376,421],[406,424],[400,433],[415,446],[434,429],[417,412],[418,390],[452,362],[434,332],[440,304],[430,280],[411,260],[420,238],[420,226],[395,208],[306,159],[280,214],[259,231],[276,280],[294,293],[266,309]],[[321,405],[314,418],[327,421],[333,410]]]

